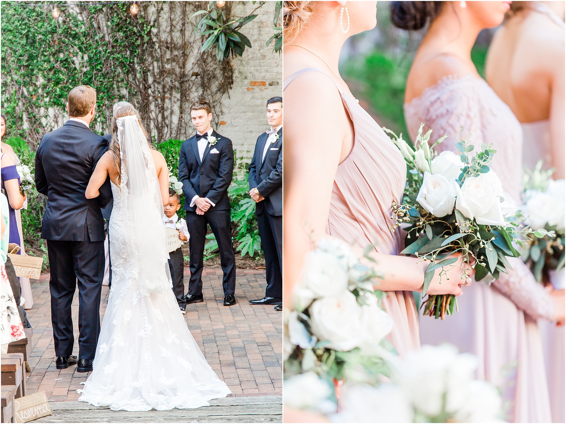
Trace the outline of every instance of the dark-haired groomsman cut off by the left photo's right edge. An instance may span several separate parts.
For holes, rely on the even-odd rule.
[[[258,137],[250,164],[250,196],[255,200],[261,249],[265,256],[265,297],[253,305],[277,305],[282,310],[281,276],[283,247],[283,98],[267,101],[267,122],[271,130]]]

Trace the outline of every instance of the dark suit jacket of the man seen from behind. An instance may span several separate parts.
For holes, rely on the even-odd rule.
[[[41,138],[36,152],[36,189],[47,196],[41,221],[41,238],[60,241],[104,241],[100,208],[112,199],[110,181],[95,199],[84,196],[95,166],[108,149],[108,142],[85,125],[67,121]]]

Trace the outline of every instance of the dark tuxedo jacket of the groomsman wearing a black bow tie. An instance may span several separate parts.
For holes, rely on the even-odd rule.
[[[215,204],[215,206],[211,205],[209,211],[230,209],[228,186],[232,182],[234,173],[232,140],[216,131],[212,131],[211,135],[218,140],[213,146],[210,143],[207,144],[202,161],[199,156],[196,134],[181,144],[179,181],[183,183],[185,211],[196,211],[196,205],[191,207],[191,200],[195,195],[208,198]]]

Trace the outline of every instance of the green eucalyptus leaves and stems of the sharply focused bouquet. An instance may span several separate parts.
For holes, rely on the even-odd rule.
[[[533,231],[525,227],[524,216],[518,209],[514,215],[505,217],[505,225],[480,225],[475,219],[465,217],[457,208],[453,208],[452,213],[443,217],[436,217],[427,212],[417,201],[424,176],[423,165],[418,163],[417,157],[426,157],[427,168],[431,169],[433,148],[441,143],[445,136],[429,147],[428,141],[432,131],[422,134],[422,127],[421,125],[417,134],[415,146],[406,143],[401,135],[397,136],[392,131],[384,129],[400,147],[408,168],[403,204],[393,200],[392,205],[392,220],[395,222],[392,230],[395,231],[401,224],[407,225],[406,247],[401,254],[416,256],[429,262],[424,275],[423,296],[436,270],[440,268],[442,280],[447,275],[444,267],[458,266],[460,256],[464,259],[464,263],[468,264],[461,265],[463,279],[468,277],[470,268],[475,271],[476,281],[482,281],[488,275],[491,275],[492,279],[498,279],[500,272],[507,273],[507,268],[512,269],[506,257],[520,256],[513,242],[519,244],[527,242],[528,234]],[[404,152],[407,148],[414,153]],[[418,155],[421,149],[425,153]],[[496,153],[491,144],[482,143],[481,150],[474,153],[474,145],[469,139],[461,139],[456,143],[456,149],[460,153],[462,162],[461,173],[456,179],[458,187],[464,185],[466,178],[478,177],[490,171],[489,164]],[[487,284],[491,284],[491,281],[487,280]],[[424,315],[444,319],[445,315],[452,315],[454,309],[457,310],[457,301],[452,294],[428,295],[421,306],[424,306]]]

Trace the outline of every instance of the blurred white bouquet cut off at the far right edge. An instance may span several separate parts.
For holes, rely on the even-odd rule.
[[[526,169],[524,174],[522,209],[533,232],[521,258],[530,263],[538,282],[549,280],[555,289],[563,289],[564,179],[550,179],[553,170],[544,172],[541,168],[542,160],[532,172]]]

